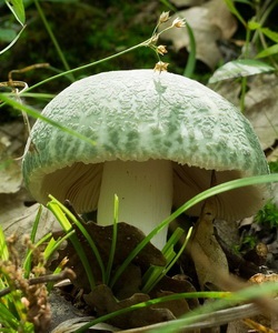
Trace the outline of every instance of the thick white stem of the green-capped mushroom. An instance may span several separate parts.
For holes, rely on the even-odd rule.
[[[98,223],[113,223],[113,198],[119,198],[119,222],[140,229],[146,235],[171,213],[172,167],[170,161],[111,161],[103,168],[98,203]],[[152,240],[162,249],[167,228]]]

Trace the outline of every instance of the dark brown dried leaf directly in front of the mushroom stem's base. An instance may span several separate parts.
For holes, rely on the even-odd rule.
[[[110,255],[113,225],[102,226],[93,222],[88,222],[83,224],[83,226],[91,235],[106,266]],[[98,262],[96,260],[95,254],[92,253],[90,245],[78,229],[76,229],[76,233],[79,238],[79,241],[82,243],[87,256],[90,258],[95,280],[98,283],[102,283],[103,281],[101,276],[101,271],[99,269]],[[60,234],[58,233],[57,235]],[[145,234],[139,229],[128,223],[119,222],[117,224],[117,245],[113,256],[113,269],[123,263],[123,261],[128,258],[130,252],[143,239]],[[64,256],[69,258],[68,264],[70,268],[73,269],[75,273],[77,274],[77,279],[73,281],[75,285],[89,291],[89,283],[87,280],[86,272],[83,270],[83,265],[80,262],[80,259],[70,242],[68,243],[64,250],[59,251],[59,256],[60,259]],[[165,265],[166,260],[162,253],[157,248],[155,248],[151,243],[148,243],[133,260],[133,263],[145,270],[151,264],[158,266]],[[51,265],[52,264],[54,264],[54,261],[51,263]]]

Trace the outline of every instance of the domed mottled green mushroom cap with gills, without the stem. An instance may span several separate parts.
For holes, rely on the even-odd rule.
[[[175,162],[175,205],[209,188],[211,170],[217,171],[217,183],[268,173],[258,138],[238,109],[207,87],[169,72],[96,74],[59,93],[42,114],[95,142],[90,144],[41,120],[34,123],[22,170],[27,188],[44,204],[51,193],[60,200],[70,199],[78,211],[96,209],[98,190],[85,191],[99,188],[101,165],[112,160]],[[77,176],[79,171],[83,175]],[[187,174],[189,180],[185,181]],[[264,202],[262,186],[220,194],[219,218],[236,209],[231,200],[239,193],[239,201],[245,195],[251,198],[244,215]],[[90,203],[89,196],[93,196]],[[230,213],[228,218],[242,214]]]

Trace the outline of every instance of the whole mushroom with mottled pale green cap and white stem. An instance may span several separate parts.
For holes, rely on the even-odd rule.
[[[42,114],[82,135],[82,141],[42,120],[23,155],[23,178],[43,204],[52,194],[78,213],[98,211],[101,225],[119,220],[148,234],[173,206],[216,184],[267,174],[267,161],[249,121],[207,87],[169,72],[111,71],[72,83]],[[216,195],[216,218],[256,213],[267,189],[250,185]],[[190,214],[198,215],[200,205]],[[153,244],[166,243],[160,232]]]

